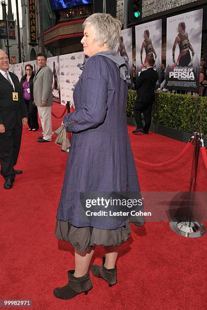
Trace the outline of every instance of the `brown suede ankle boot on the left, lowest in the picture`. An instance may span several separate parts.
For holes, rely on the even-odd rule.
[[[69,270],[68,283],[65,286],[54,289],[53,294],[60,299],[71,299],[80,293],[88,294],[88,291],[93,287],[89,272],[83,277],[74,277],[75,270]]]

